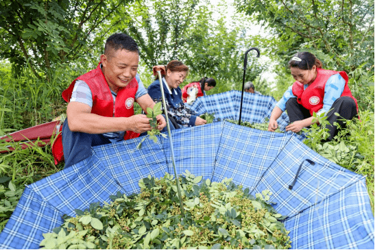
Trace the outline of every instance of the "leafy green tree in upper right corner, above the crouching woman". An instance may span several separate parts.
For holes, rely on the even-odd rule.
[[[237,7],[271,28],[271,49],[285,61],[293,51],[313,48],[329,55],[321,59],[335,69],[374,66],[374,1],[237,0]]]

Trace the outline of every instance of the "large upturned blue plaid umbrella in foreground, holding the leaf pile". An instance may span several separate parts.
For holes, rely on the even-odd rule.
[[[274,208],[287,216],[293,249],[374,249],[365,177],[326,160],[295,134],[221,121],[174,130],[172,138],[178,174],[232,178],[253,195],[271,190]],[[145,140],[136,150],[141,139],[94,147],[90,158],[27,186],[0,234],[0,249],[37,249],[63,214],[109,202],[117,191],[139,192],[138,180],[147,175],[173,174],[169,139]]]

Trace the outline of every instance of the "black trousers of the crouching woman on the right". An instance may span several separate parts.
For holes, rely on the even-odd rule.
[[[311,117],[309,110],[304,108],[301,104],[297,102],[297,98],[291,98],[287,101],[286,104],[287,112],[289,116],[289,121],[291,123],[295,121],[301,121],[306,118]],[[335,113],[339,113],[340,116],[336,116]],[[327,121],[330,125],[327,125],[329,129],[328,133],[330,136],[326,139],[326,141],[332,140],[337,135],[337,126],[333,125],[335,122],[339,123],[340,127],[346,127],[346,123],[344,123],[343,118],[346,120],[351,120],[354,116],[357,116],[358,113],[356,112],[356,103],[350,97],[339,97],[330,108],[330,111],[326,115]]]

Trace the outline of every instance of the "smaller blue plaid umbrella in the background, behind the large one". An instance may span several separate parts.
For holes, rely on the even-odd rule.
[[[277,101],[274,97],[268,95],[257,95],[249,92],[243,92],[243,103],[241,121],[250,123],[264,123],[265,118],[271,116],[272,110],[275,108]],[[230,90],[214,95],[206,95],[197,98],[192,105],[186,104],[198,115],[204,113],[215,113],[215,120],[218,118],[239,120],[239,108],[241,107],[241,91]],[[285,131],[285,127],[289,124],[287,113],[282,112],[278,118],[278,125],[281,131]]]

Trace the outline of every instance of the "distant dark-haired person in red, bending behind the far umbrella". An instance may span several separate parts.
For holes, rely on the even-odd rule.
[[[197,97],[204,97],[205,91],[210,91],[215,86],[216,81],[213,78],[204,77],[197,82],[191,82],[182,88],[182,101],[191,105]]]

